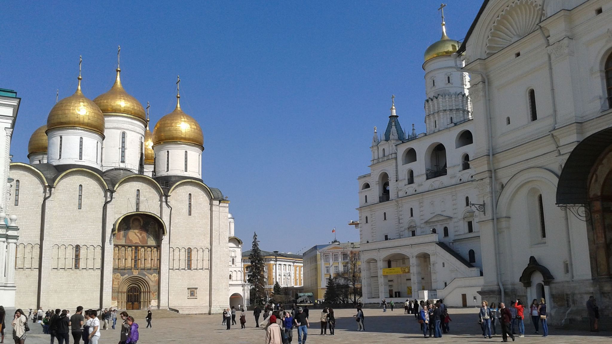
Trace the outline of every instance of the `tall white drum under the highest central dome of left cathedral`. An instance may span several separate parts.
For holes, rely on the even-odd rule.
[[[141,152],[144,152],[145,125],[138,119],[104,114],[104,159],[103,170],[128,168],[138,172]],[[125,132],[125,159],[121,162],[121,133]],[[141,142],[143,143],[141,146]]]

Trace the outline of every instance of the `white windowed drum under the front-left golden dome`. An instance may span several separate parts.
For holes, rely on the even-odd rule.
[[[53,165],[84,165],[102,169],[102,135],[79,128],[55,128],[47,131],[48,162]],[[59,141],[62,138],[62,157]],[[80,138],[83,138],[83,159],[79,159]],[[97,147],[97,149],[96,149]]]

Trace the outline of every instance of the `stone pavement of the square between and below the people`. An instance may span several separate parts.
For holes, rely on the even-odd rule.
[[[442,338],[423,338],[419,329],[419,323],[414,320],[414,315],[404,315],[403,309],[383,313],[381,309],[365,309],[366,332],[357,332],[357,323],[352,317],[354,310],[339,309],[335,311],[337,318],[336,334],[319,335],[318,322],[313,322],[308,329],[308,344],[330,344],[330,343],[398,343],[398,340],[424,340],[425,342],[453,343],[453,342],[480,342],[497,343],[501,340],[498,335],[492,339],[482,338],[480,325],[477,323],[477,310],[450,309],[450,334]],[[310,318],[318,320],[319,312],[310,311]],[[144,319],[136,319],[140,326],[139,344],[144,343],[211,343],[211,344],[262,344],[264,342],[264,330],[253,327],[255,319],[252,312],[247,312],[247,328],[241,329],[240,325],[233,326],[230,331],[222,325],[221,315],[185,315],[176,318],[153,319],[152,329],[145,328]],[[547,338],[540,335],[532,335],[533,326],[525,324],[527,335],[517,338],[517,344],[523,343],[571,343],[571,344],[595,344],[612,343],[612,332],[599,332],[591,335],[591,332],[567,331],[561,329],[550,329]],[[499,331],[499,329],[498,329]],[[293,331],[293,344],[297,344],[297,330]],[[9,335],[10,336],[10,335]],[[12,338],[7,336],[6,343],[12,343]],[[119,327],[115,330],[102,331],[100,344],[116,344],[119,342]],[[26,344],[49,343],[49,335],[28,335]],[[72,336],[70,337],[72,344]]]

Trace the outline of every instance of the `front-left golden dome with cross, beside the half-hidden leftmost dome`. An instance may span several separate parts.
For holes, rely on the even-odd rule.
[[[81,92],[81,75],[76,92],[56,103],[47,118],[47,130],[77,127],[104,135],[104,115],[94,102]]]

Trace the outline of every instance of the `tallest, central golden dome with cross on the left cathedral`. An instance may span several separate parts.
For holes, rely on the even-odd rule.
[[[127,94],[123,86],[121,86],[121,78],[119,78],[121,69],[117,68],[117,78],[108,92],[100,94],[94,99],[94,103],[98,105],[102,113],[119,113],[126,116],[140,119],[146,123],[147,116],[144,113],[143,105],[136,98]]]

